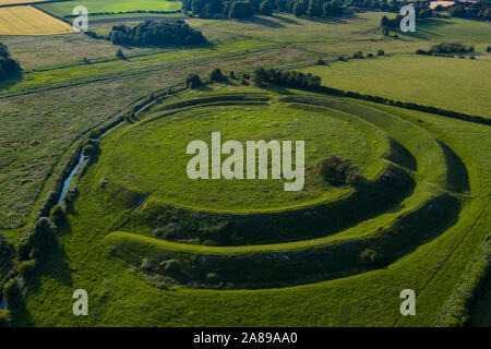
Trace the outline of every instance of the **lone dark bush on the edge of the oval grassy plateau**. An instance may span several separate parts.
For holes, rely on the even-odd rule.
[[[335,155],[320,159],[318,168],[322,179],[333,185],[359,185],[366,182],[363,176],[358,173],[358,167],[349,159],[342,159]]]

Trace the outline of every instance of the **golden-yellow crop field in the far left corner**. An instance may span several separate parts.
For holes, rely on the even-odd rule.
[[[33,7],[0,8],[0,35],[52,35],[71,33],[67,23]]]

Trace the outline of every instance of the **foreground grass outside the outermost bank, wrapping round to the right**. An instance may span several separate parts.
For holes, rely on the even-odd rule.
[[[124,213],[87,196],[75,204],[70,232],[50,251],[33,282],[20,324],[37,325],[431,325],[486,230],[490,164],[489,132],[482,125],[390,108],[411,122],[424,121],[432,134],[454,146],[469,167],[472,200],[459,222],[387,268],[314,285],[260,291],[161,291],[118,260],[107,257],[100,240]],[[455,132],[454,132],[455,131]],[[452,143],[454,142],[454,143]],[[479,152],[472,152],[477,147]],[[93,170],[82,180],[94,180]],[[489,213],[488,213],[489,214]],[[87,220],[88,219],[88,220]],[[89,231],[87,226],[91,226]],[[376,287],[375,287],[376,285]],[[92,316],[70,315],[71,291],[92,294]],[[418,293],[417,316],[399,320],[398,292]],[[53,293],[53,289],[57,290]],[[44,311],[44,310],[50,311]],[[128,316],[128,314],[132,314]]]

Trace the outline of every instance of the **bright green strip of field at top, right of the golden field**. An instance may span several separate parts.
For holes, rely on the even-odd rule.
[[[62,1],[44,3],[39,7],[57,16],[63,17],[72,15],[75,5],[86,7],[88,13],[103,12],[129,12],[129,11],[178,11],[181,9],[180,1],[161,1],[161,0],[82,0],[82,1]]]

